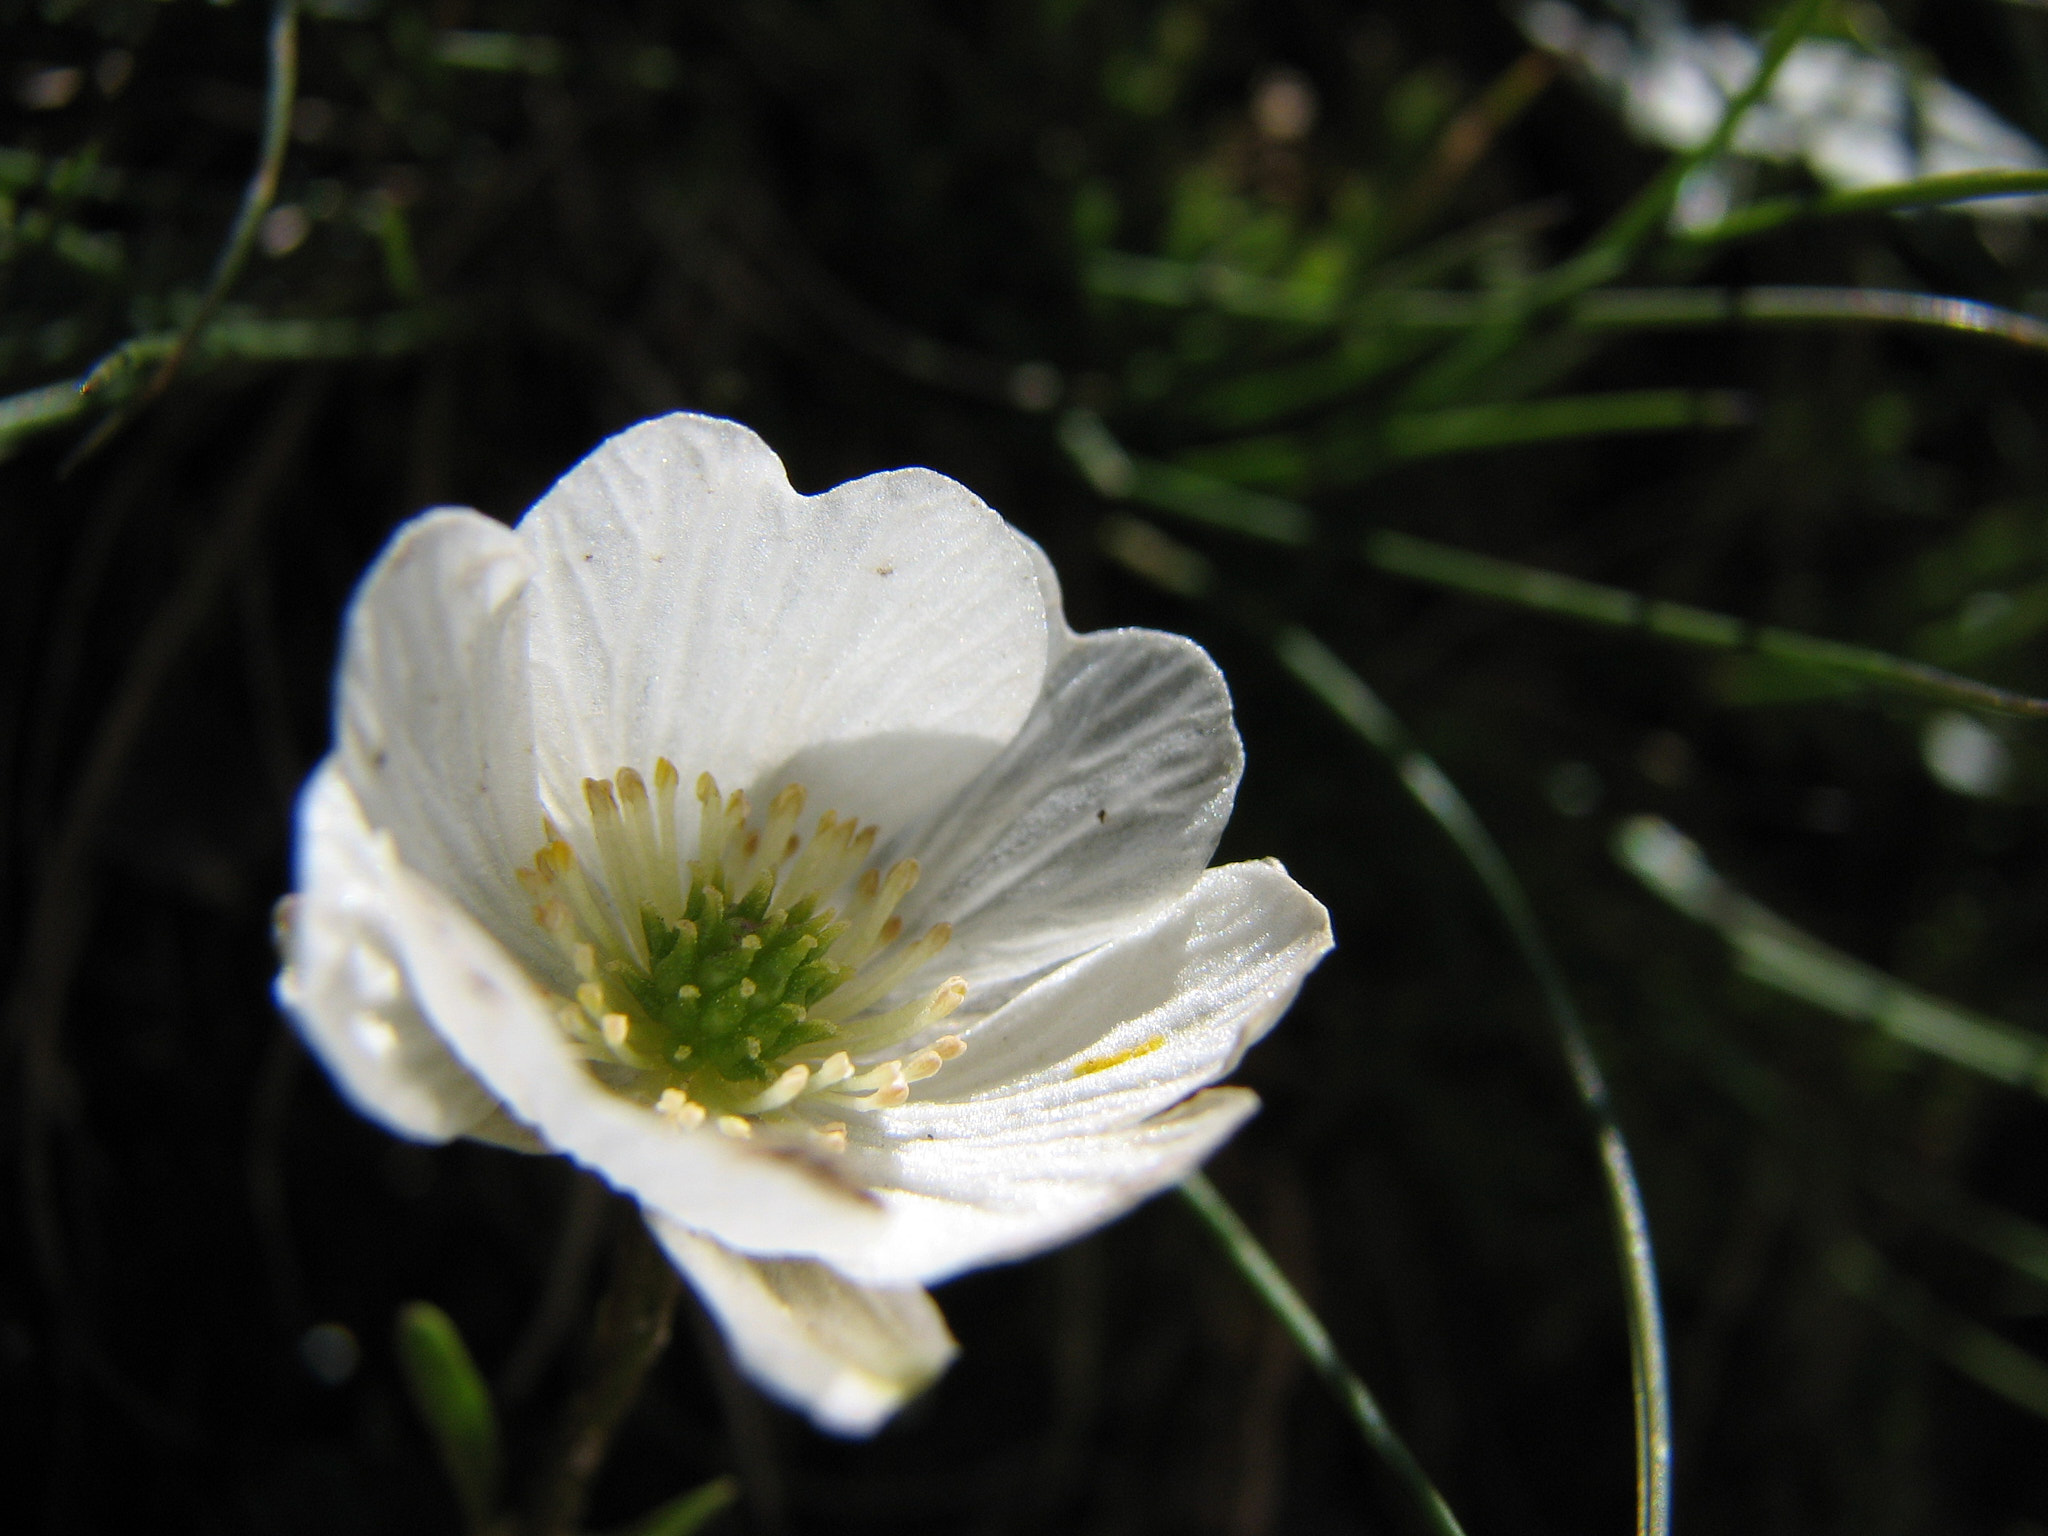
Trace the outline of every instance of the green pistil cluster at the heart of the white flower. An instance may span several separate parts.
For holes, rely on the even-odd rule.
[[[647,969],[612,961],[604,975],[610,1001],[631,999],[618,1012],[631,1020],[635,1055],[678,1077],[709,1067],[733,1083],[768,1083],[772,1063],[836,1034],[809,1010],[852,975],[827,954],[846,924],[813,911],[811,897],[770,909],[772,895],[772,877],[762,877],[727,905],[719,885],[692,879],[682,922],[641,907]]]

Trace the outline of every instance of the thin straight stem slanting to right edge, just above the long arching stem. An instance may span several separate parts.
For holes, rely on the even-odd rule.
[[[1522,608],[1577,618],[1612,629],[1636,629],[1681,645],[1710,651],[1753,651],[1800,668],[1815,668],[1853,678],[1864,684],[1898,688],[1966,709],[1987,709],[1999,715],[2048,717],[2048,698],[2032,698],[2007,688],[1993,688],[1976,678],[1962,678],[1923,662],[1872,651],[1864,645],[1800,635],[1776,625],[1751,625],[1731,614],[1694,608],[1683,602],[1642,598],[1614,586],[1581,582],[1575,575],[1516,565],[1491,555],[1440,545],[1432,539],[1382,528],[1366,535],[1360,555],[1374,569],[1413,582],[1427,582],[1477,598],[1511,602]]]

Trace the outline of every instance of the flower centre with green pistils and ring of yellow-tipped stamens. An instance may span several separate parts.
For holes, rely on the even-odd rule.
[[[903,940],[897,905],[918,860],[868,864],[877,827],[825,811],[799,834],[805,793],[784,786],[756,819],[743,791],[698,774],[698,856],[676,852],[676,766],[586,778],[602,879],[590,879],[553,821],[518,872],[535,920],[575,969],[563,1032],[610,1087],[680,1126],[711,1118],[733,1137],[756,1124],[846,1145],[844,1120],[883,1110],[965,1044],[946,1034],[909,1057],[872,1059],[946,1018],[967,997],[952,977],[924,997],[877,1006],[952,936],[938,924]],[[827,905],[844,897],[838,905]]]

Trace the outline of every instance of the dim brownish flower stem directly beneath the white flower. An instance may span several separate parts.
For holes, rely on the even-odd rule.
[[[641,1382],[668,1348],[682,1280],[637,1210],[621,1210],[612,1278],[598,1303],[590,1374],[569,1399],[526,1513],[528,1536],[573,1536],[590,1485]]]

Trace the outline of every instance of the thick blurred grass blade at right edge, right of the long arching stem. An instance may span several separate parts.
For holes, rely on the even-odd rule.
[[[1669,821],[1630,817],[1616,831],[1614,856],[1673,907],[1714,928],[1753,981],[2048,1098],[2048,1038],[1929,997],[1794,928],[1729,885]]]

